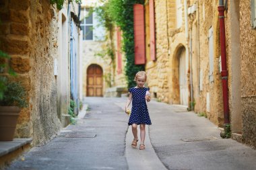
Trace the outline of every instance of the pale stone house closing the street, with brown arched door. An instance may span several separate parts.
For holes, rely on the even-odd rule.
[[[82,3],[83,95],[120,97],[126,84],[121,74],[121,32],[118,28],[104,28],[102,18],[95,10],[98,5],[98,1]]]

